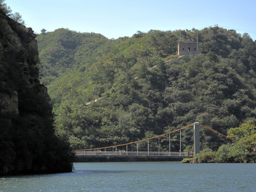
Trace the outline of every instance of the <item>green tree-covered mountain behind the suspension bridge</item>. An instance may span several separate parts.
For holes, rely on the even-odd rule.
[[[180,40],[196,42],[197,33],[200,54],[178,58]],[[226,134],[256,120],[256,45],[248,34],[209,27],[107,39],[62,28],[37,41],[55,131],[73,149],[137,141],[194,122]],[[183,148],[193,145],[192,135],[182,131]],[[178,141],[174,134],[172,150]],[[225,142],[201,130],[203,148]],[[165,145],[162,139],[161,150]]]

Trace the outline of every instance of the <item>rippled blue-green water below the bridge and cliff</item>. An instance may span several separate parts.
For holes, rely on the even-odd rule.
[[[256,191],[256,164],[75,163],[71,173],[0,178],[0,191]]]

